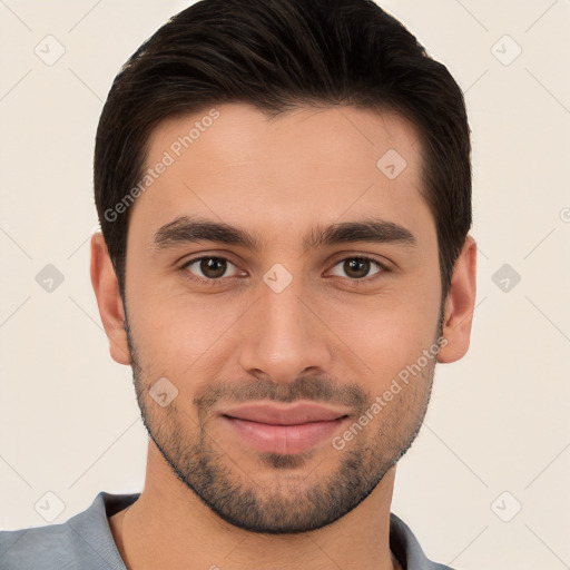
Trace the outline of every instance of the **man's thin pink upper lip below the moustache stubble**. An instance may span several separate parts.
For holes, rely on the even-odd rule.
[[[345,411],[333,410],[312,403],[276,405],[264,402],[232,407],[225,410],[222,414],[239,420],[249,420],[250,422],[273,425],[326,422],[348,415]]]

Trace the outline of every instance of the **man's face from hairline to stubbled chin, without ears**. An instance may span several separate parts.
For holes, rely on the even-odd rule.
[[[222,105],[153,132],[127,243],[137,399],[173,473],[232,524],[330,524],[417,434],[441,316],[420,151],[404,119],[351,107]],[[259,402],[340,419],[261,433],[226,413]]]

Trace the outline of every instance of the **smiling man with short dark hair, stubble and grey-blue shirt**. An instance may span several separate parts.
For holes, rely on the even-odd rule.
[[[461,89],[367,0],[204,0],[117,76],[91,281],[149,433],[140,495],[0,567],[443,569],[390,512],[475,299]]]

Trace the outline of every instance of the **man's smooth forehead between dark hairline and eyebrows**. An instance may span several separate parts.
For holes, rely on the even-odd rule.
[[[142,175],[155,175],[131,224],[149,232],[200,215],[275,232],[377,210],[413,227],[426,214],[420,150],[414,127],[392,111],[303,107],[269,118],[246,104],[214,106],[150,134]]]

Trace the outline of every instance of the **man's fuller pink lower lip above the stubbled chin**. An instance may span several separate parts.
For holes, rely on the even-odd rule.
[[[302,453],[332,434],[347,417],[327,422],[311,422],[296,425],[272,425],[267,423],[222,416],[249,445],[263,453],[289,455]]]

